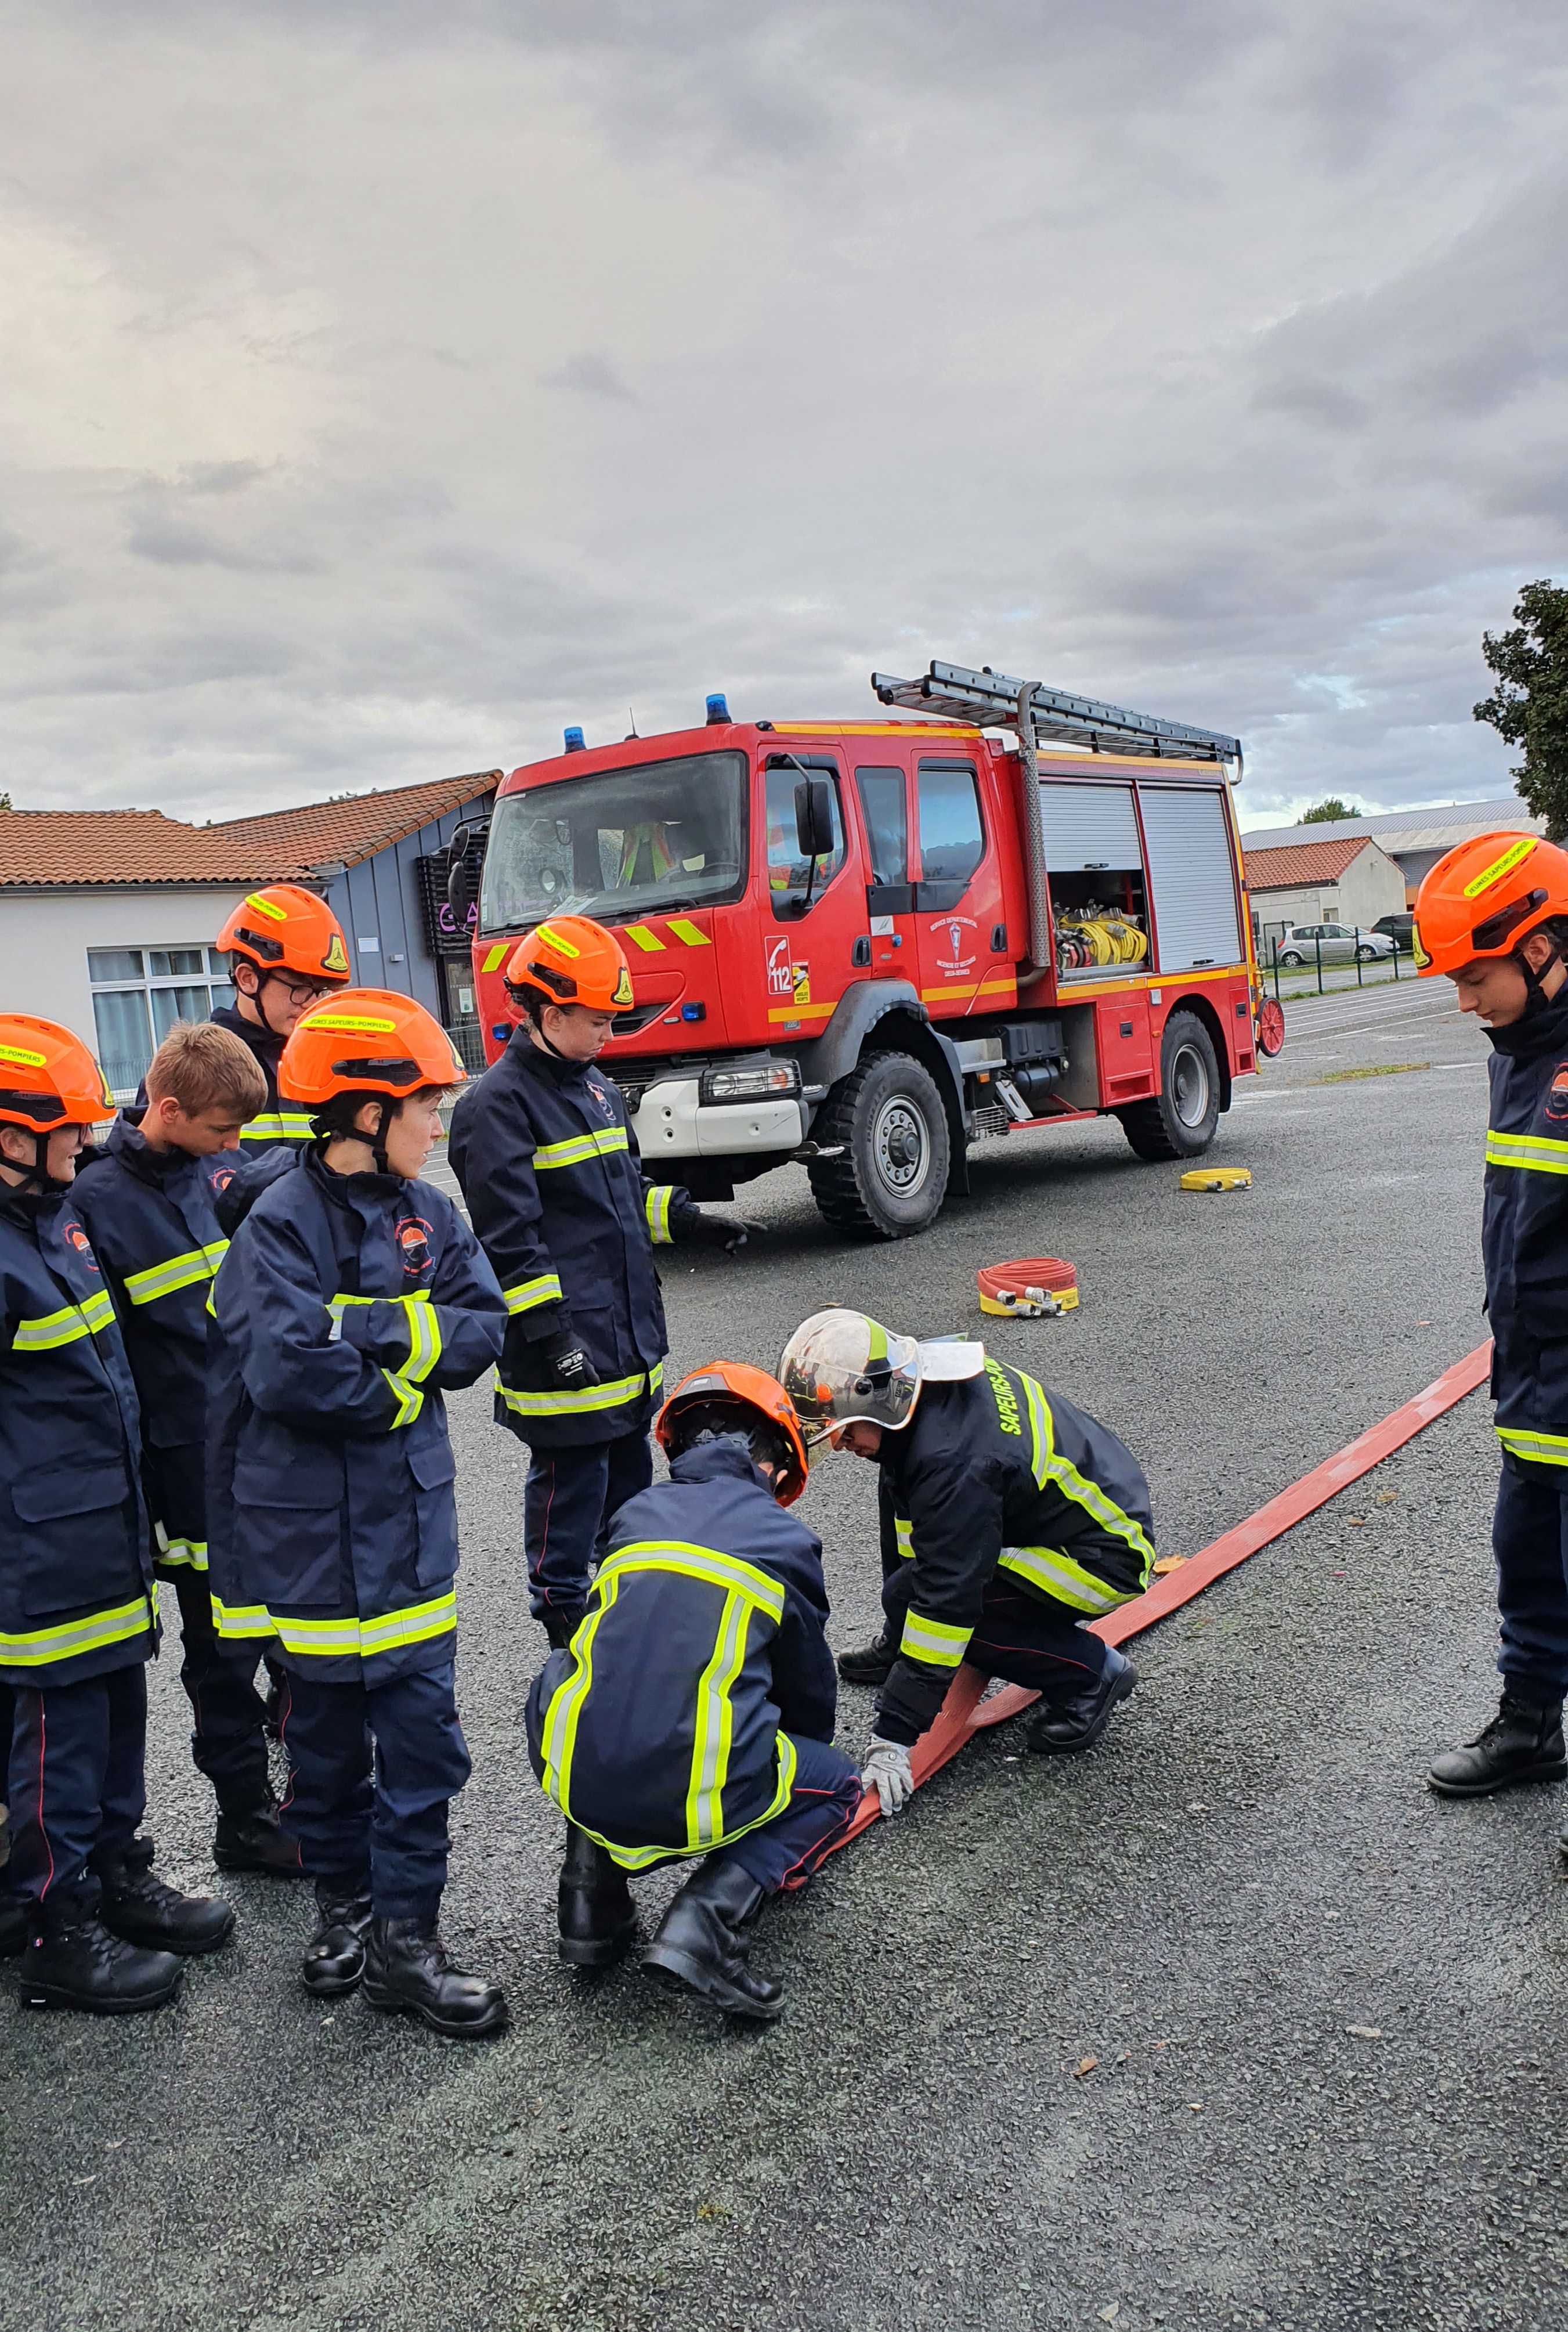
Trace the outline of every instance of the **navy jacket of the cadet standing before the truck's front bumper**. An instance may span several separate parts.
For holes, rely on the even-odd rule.
[[[511,1315],[497,1423],[534,1448],[639,1432],[670,1350],[653,1248],[695,1210],[642,1173],[614,1077],[541,1052],[523,1024],[457,1098],[448,1159]],[[597,1385],[555,1381],[539,1346],[560,1332]]]

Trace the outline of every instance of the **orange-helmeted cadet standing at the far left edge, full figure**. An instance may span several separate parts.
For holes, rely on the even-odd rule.
[[[114,1304],[70,1203],[112,1103],[86,1045],[0,1017],[0,1686],[9,1882],[26,1901],[28,2008],[159,2008],[180,1954],[215,1952],[226,1903],[152,1875],[145,1663],[156,1588],[140,1420]]]

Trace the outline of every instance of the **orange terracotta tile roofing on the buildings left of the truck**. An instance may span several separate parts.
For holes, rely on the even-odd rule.
[[[499,770],[439,777],[222,826],[184,826],[161,809],[0,809],[0,888],[306,881],[334,861],[373,858],[448,809],[481,800],[499,777]]]

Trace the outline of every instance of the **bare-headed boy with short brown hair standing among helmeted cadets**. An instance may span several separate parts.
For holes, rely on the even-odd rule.
[[[243,1164],[240,1126],[264,1105],[247,1045],[210,1021],[177,1021],[152,1056],[147,1105],[114,1119],[72,1199],[135,1376],[152,1565],[180,1600],[191,1754],[217,1796],[212,1859],[219,1870],[301,1877],[266,1770],[257,1646],[219,1644],[208,1595],[208,1294],[229,1245],[212,1206]]]

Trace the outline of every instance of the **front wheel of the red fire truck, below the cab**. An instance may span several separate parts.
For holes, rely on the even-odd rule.
[[[873,1052],[828,1094],[812,1140],[842,1157],[812,1159],[812,1199],[835,1231],[910,1238],[947,1196],[947,1112],[929,1070],[908,1052]]]

